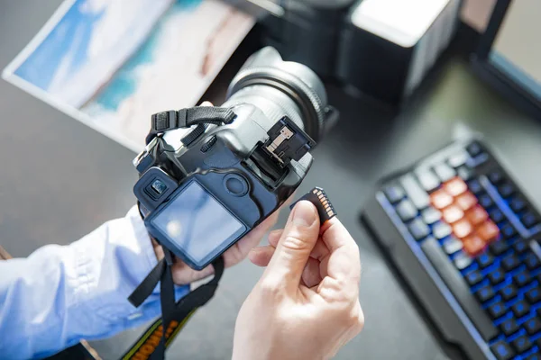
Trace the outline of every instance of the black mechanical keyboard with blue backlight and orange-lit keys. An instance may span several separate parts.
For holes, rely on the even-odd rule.
[[[388,176],[362,221],[450,347],[541,359],[541,217],[480,140]]]

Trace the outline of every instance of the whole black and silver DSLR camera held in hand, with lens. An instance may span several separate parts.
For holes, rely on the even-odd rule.
[[[221,107],[152,115],[133,192],[151,237],[201,270],[280,208],[337,112],[308,67],[248,58]]]

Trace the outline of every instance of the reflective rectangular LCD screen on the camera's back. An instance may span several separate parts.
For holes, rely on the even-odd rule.
[[[196,265],[205,263],[246,230],[195,181],[170,200],[151,224]]]

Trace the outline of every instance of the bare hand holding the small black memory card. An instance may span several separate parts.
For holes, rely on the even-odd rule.
[[[315,206],[298,202],[286,228],[254,248],[267,266],[237,317],[234,359],[327,359],[364,324],[359,247],[333,218],[321,227]]]

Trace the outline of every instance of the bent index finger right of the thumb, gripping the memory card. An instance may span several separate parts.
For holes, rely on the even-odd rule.
[[[361,280],[359,247],[337,218],[326,221],[321,227],[321,238],[329,249],[327,275],[344,284],[358,286]]]

